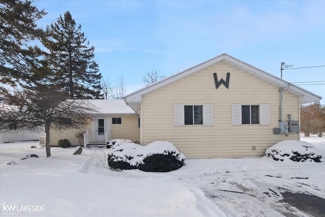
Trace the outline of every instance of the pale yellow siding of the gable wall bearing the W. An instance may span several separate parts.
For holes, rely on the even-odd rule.
[[[215,87],[218,80],[230,73],[229,89]],[[142,144],[170,141],[186,157],[249,157],[262,156],[266,148],[284,139],[299,135],[274,135],[278,128],[279,89],[223,62],[185,77],[143,96]],[[174,126],[174,105],[213,105],[213,126]],[[232,125],[232,104],[270,106],[270,125]],[[299,117],[298,97],[283,92],[282,120]],[[256,150],[252,150],[252,146]]]

